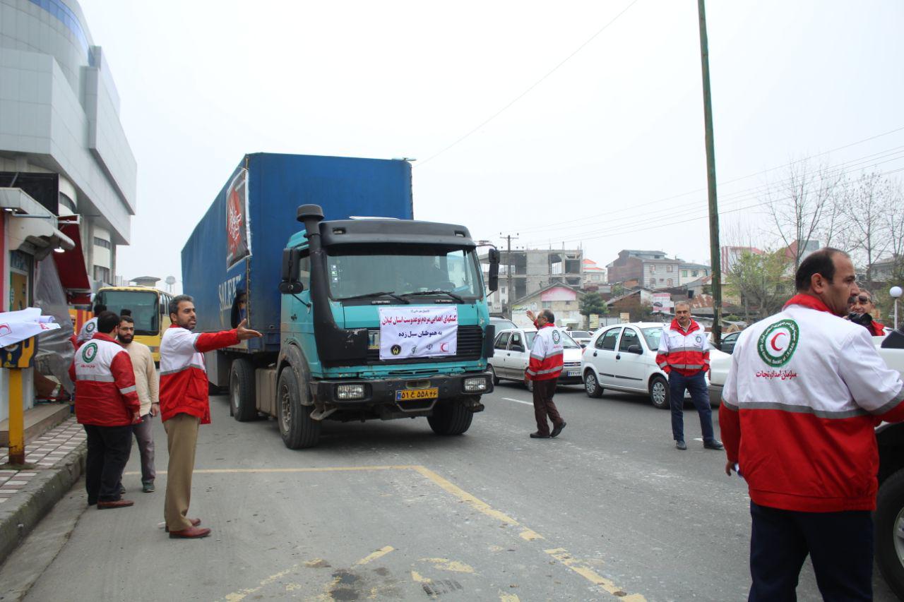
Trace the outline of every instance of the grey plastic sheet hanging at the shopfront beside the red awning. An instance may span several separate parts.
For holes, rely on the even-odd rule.
[[[52,257],[39,261],[34,272],[34,306],[40,307],[43,315],[52,315],[60,325],[58,330],[48,331],[38,338],[34,366],[38,372],[56,377],[62,388],[71,393],[75,387],[69,379],[69,366],[75,350],[71,342],[73,327],[66,305],[66,291]]]

